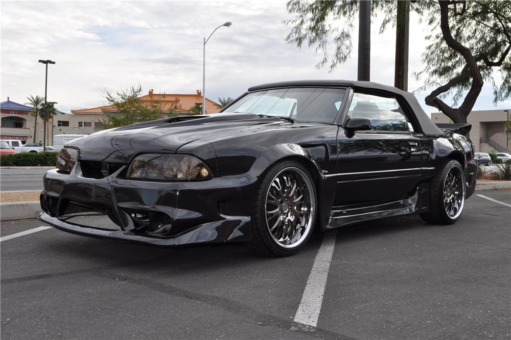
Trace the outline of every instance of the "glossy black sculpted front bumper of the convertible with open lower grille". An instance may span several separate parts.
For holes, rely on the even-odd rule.
[[[125,170],[101,179],[85,177],[80,163],[71,174],[48,171],[39,219],[83,236],[154,246],[252,240],[249,193],[255,184],[248,178],[151,182],[124,179]],[[74,221],[91,213],[110,218],[114,228]]]

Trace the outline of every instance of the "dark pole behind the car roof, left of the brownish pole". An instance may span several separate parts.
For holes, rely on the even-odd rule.
[[[359,1],[358,75],[357,80],[369,81],[371,59],[371,1]]]

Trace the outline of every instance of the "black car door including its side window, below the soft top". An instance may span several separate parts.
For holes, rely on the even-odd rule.
[[[377,204],[409,197],[421,179],[420,141],[395,97],[354,93],[344,118],[368,119],[371,129],[339,127],[334,206]]]

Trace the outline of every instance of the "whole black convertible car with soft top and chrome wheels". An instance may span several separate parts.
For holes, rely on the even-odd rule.
[[[406,214],[451,224],[475,190],[469,130],[433,124],[412,94],[376,83],[255,86],[222,113],[69,142],[44,175],[40,219],[90,237],[273,255],[298,251],[313,229]],[[89,215],[106,221],[84,225],[99,218]]]

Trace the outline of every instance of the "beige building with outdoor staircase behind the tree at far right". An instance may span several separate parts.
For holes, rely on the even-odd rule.
[[[511,145],[506,146],[507,136],[504,130],[508,112],[509,110],[482,110],[469,114],[468,123],[472,124],[470,139],[476,152],[507,152],[506,150],[511,149]],[[452,123],[449,117],[441,112],[432,113],[431,120],[433,123]]]

